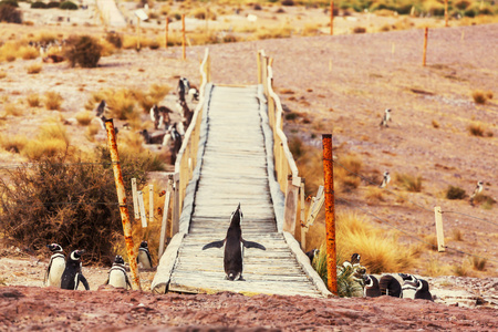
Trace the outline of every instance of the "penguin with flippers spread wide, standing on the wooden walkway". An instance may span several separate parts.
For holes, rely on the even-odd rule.
[[[242,269],[243,269],[243,248],[258,248],[261,250],[267,250],[264,246],[246,241],[242,238],[242,230],[240,229],[240,222],[242,221],[242,210],[240,209],[240,203],[237,209],[231,214],[230,226],[227,230],[227,237],[220,241],[214,241],[207,243],[203,247],[203,250],[209,248],[221,248],[225,246],[224,253],[224,267],[226,279],[234,281],[243,281]]]

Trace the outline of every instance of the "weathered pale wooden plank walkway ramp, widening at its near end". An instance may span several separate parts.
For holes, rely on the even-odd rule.
[[[300,262],[288,237],[277,231],[258,86],[212,86],[207,100],[204,115],[207,137],[188,234],[174,238],[168,246],[153,291],[163,283],[157,292],[323,297],[317,280],[305,273],[302,264],[305,256],[298,252]],[[225,238],[230,215],[239,203],[243,214],[242,237],[267,250],[246,249],[246,281],[229,281],[225,280],[224,249],[201,248]]]

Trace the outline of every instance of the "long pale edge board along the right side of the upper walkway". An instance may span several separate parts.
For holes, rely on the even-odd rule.
[[[274,218],[277,220],[277,231],[283,229],[283,211],[286,207],[286,196],[280,190],[280,185],[276,178],[274,157],[273,157],[273,132],[271,131],[268,118],[268,103],[263,93],[263,85],[258,84],[259,114],[261,116],[261,126],[264,136],[264,149],[267,151],[268,181],[270,185],[271,200],[273,201]]]

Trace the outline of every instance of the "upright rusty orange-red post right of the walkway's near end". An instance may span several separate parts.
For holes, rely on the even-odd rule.
[[[338,294],[338,268],[335,264],[335,207],[334,166],[332,159],[332,134],[322,135],[323,174],[325,177],[325,230],[326,230],[326,278],[329,290]]]

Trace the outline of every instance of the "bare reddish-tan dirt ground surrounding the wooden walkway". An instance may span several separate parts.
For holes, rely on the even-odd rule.
[[[12,31],[12,24],[1,24],[0,29]],[[89,29],[103,33],[98,27]],[[471,256],[467,253],[485,257],[488,260],[484,271],[467,271],[477,278],[442,277],[430,282],[434,288],[470,291],[469,301],[474,305],[468,307],[475,308],[477,302],[486,305],[457,308],[455,303],[460,307],[467,303],[458,301],[458,294],[443,303],[387,297],[315,300],[231,293],[153,295],[147,292],[153,272],[141,273],[144,292],[107,292],[98,290],[107,273],[106,268],[98,267],[84,267],[92,291],[69,292],[41,288],[46,252],[27,255],[22,249],[7,247],[0,258],[1,330],[496,329],[497,309],[489,303],[498,298],[497,206],[485,209],[470,206],[468,199],[444,197],[449,185],[461,187],[469,195],[481,179],[484,193],[498,198],[498,45],[492,42],[496,40],[497,24],[430,30],[425,68],[421,29],[209,45],[212,81],[224,84],[256,84],[256,51],[264,49],[274,59],[273,84],[286,110],[298,114],[286,122],[288,135],[320,149],[321,134],[333,133],[335,155],[354,153],[361,157],[365,179],[355,191],[338,194],[343,200],[338,201],[336,210],[353,208],[367,212],[390,221],[387,225],[372,218],[378,227],[391,230],[394,226],[429,241],[435,235],[434,207],[442,206],[447,252],[437,253],[424,247],[419,263],[404,272],[452,276],[456,267],[471,264]],[[74,118],[91,93],[101,89],[147,89],[154,83],[176,86],[180,75],[198,84],[198,63],[204,51],[205,46],[188,48],[186,61],[180,60],[178,48],[122,51],[102,58],[97,69],[43,64],[37,75],[28,74],[27,68],[40,62],[39,59],[0,63],[0,70],[7,73],[0,80],[0,113],[7,103],[21,103],[31,93],[56,91],[64,98],[61,111],[38,107],[22,116],[2,116],[1,132],[33,137],[46,121]],[[476,90],[490,91],[494,97],[484,105],[475,104],[471,93]],[[393,121],[388,128],[381,129],[378,123],[386,107],[393,110]],[[470,135],[467,127],[474,122],[485,124],[489,135]],[[66,123],[73,144],[94,146],[95,142],[86,139],[84,126]],[[0,152],[0,159],[2,165],[23,160],[6,151]],[[408,193],[394,181],[382,200],[372,203],[369,189],[373,185],[366,179],[380,183],[384,170],[422,176],[423,190]],[[317,230],[320,227],[317,225]],[[453,236],[456,230],[461,232],[461,239]],[[419,242],[411,237],[403,240]],[[309,242],[313,246],[312,239]],[[465,297],[468,300],[468,294]]]

